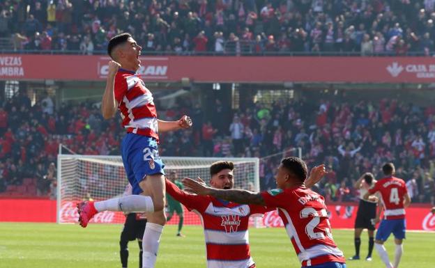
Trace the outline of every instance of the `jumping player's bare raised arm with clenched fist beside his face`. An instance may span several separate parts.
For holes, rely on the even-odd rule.
[[[116,61],[109,61],[109,74],[107,75],[106,89],[102,95],[101,113],[102,117],[109,119],[114,117],[118,102],[115,100],[115,77],[121,65]]]

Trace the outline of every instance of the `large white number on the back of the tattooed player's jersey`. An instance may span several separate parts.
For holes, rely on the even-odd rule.
[[[319,214],[319,212],[314,210],[313,207],[305,207],[300,211],[300,219],[306,219],[310,215],[313,216],[313,219],[307,224],[307,226],[305,226],[305,232],[307,233],[308,237],[310,237],[310,239],[324,239],[326,235],[330,239],[333,239],[333,234],[330,231],[330,223],[328,219],[326,219],[328,227],[323,228],[323,230],[318,227],[320,223],[320,217],[328,217],[328,212],[326,212],[326,210],[323,208],[320,210]],[[321,230],[321,232],[314,232],[314,228]]]

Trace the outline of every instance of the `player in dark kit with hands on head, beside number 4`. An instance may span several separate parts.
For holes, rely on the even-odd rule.
[[[358,205],[355,220],[355,255],[349,258],[349,260],[360,259],[361,232],[364,229],[367,229],[369,235],[369,253],[367,253],[365,260],[372,260],[377,198],[373,196],[372,200],[364,200],[364,196],[375,183],[376,180],[374,180],[372,173],[364,173],[353,185],[353,187],[360,190],[360,204]]]

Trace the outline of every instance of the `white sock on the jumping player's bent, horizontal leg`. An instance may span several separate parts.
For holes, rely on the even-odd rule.
[[[96,210],[102,212],[122,211],[122,212],[154,212],[153,199],[149,196],[123,196],[121,198],[112,198],[94,203]]]

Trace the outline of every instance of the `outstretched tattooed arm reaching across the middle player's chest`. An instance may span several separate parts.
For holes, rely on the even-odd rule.
[[[206,187],[204,184],[200,184],[199,182],[196,182],[190,178],[183,179],[183,184],[186,189],[189,189],[189,191],[201,196],[214,196],[215,198],[232,201],[239,204],[266,205],[263,196],[261,196],[260,193],[238,189],[213,189],[211,187]]]

